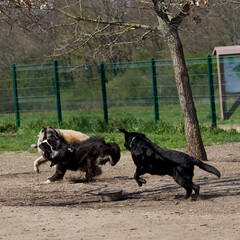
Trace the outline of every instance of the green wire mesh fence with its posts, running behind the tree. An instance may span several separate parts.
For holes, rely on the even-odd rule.
[[[239,124],[239,110],[222,120],[216,58],[187,58],[200,124]],[[98,119],[183,122],[172,61],[62,66],[57,61],[0,68],[0,124]],[[238,96],[231,95],[229,106]]]

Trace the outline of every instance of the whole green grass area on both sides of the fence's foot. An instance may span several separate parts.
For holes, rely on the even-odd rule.
[[[215,145],[240,140],[240,133],[231,129],[224,131],[211,127],[211,114],[208,104],[196,104],[198,119],[204,145]],[[15,126],[15,116],[1,115],[0,120],[0,151],[29,150],[31,144],[37,142],[37,135],[42,125],[57,128],[56,112],[21,114],[21,127]],[[153,142],[163,148],[185,148],[186,139],[184,125],[178,105],[163,105],[159,111],[158,124],[154,121],[153,107],[110,108],[109,124],[104,125],[102,110],[63,111],[61,128],[74,129],[90,136],[100,135],[106,141],[117,142],[121,150],[125,150],[123,134],[118,128],[142,132]],[[218,124],[237,124],[239,113],[234,113],[230,120],[220,120]],[[11,119],[11,121],[10,121]]]

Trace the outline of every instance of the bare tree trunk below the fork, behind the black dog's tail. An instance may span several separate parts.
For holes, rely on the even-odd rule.
[[[203,146],[197,112],[194,106],[189,75],[183,53],[183,47],[178,35],[178,29],[169,26],[161,18],[159,30],[164,34],[170,49],[178,89],[179,102],[183,114],[188,153],[201,160],[207,160]]]

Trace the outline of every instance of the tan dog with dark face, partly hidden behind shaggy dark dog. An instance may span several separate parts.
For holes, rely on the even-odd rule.
[[[87,136],[84,133],[81,132],[77,132],[74,130],[66,130],[66,129],[54,129],[52,128],[50,125],[48,125],[47,127],[43,126],[42,129],[40,130],[39,134],[38,134],[38,153],[41,155],[41,157],[37,158],[34,161],[34,171],[36,173],[39,173],[39,166],[47,161],[49,161],[49,159],[46,159],[46,157],[44,157],[44,152],[39,148],[39,144],[41,144],[44,139],[48,139],[51,136],[56,135],[55,131],[68,143],[68,144],[74,144],[74,143],[80,143],[86,139],[89,138],[89,136]]]

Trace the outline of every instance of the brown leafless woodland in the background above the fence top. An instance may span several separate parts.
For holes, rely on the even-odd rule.
[[[13,4],[15,1],[11,2]],[[63,0],[49,2],[56,6],[65,4]],[[138,6],[138,1],[135,1],[134,7],[130,8],[128,4],[134,1],[68,2],[73,12],[82,7],[84,14],[89,13],[93,17],[103,14],[107,19],[115,16],[115,19],[121,21],[128,20],[131,16],[134,22],[154,22],[154,17],[149,17],[148,5]],[[82,6],[76,5],[77,2],[82,2]],[[179,32],[187,57],[211,54],[215,46],[240,44],[240,14],[237,11],[240,9],[240,4],[234,4],[234,1],[220,2],[221,4],[218,0],[212,0],[209,8],[201,9],[203,17],[197,23],[192,22],[191,19],[186,19],[186,26],[180,26]],[[83,43],[74,39],[74,35],[77,36],[82,31],[81,34],[85,34],[85,39],[87,39],[89,36],[85,32],[84,26],[79,24],[74,28],[64,27],[68,20],[59,13],[45,11],[31,21],[27,17],[21,19],[17,6],[15,9],[10,8],[10,10],[7,11],[3,4],[0,4],[0,66],[12,63],[52,61],[55,58],[61,59],[61,62],[65,64],[74,65],[97,64],[101,61],[113,63],[134,61],[151,57],[170,58],[165,42],[156,32],[146,36],[141,32],[137,33],[138,40],[136,41],[134,40],[136,32],[129,30],[124,34],[123,42],[125,44],[115,44],[104,50],[105,43],[109,42],[109,39],[114,39],[115,34],[118,34],[114,32],[112,27],[109,27],[107,33],[101,37]],[[92,29],[94,31],[94,25],[92,25]],[[77,44],[82,44],[83,47],[77,47]],[[96,46],[99,45],[102,46],[102,50],[96,54]]]

